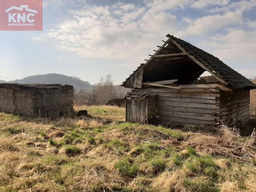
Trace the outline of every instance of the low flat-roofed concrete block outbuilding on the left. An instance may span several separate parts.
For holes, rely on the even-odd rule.
[[[0,112],[25,116],[72,117],[73,99],[74,89],[71,85],[0,84]]]

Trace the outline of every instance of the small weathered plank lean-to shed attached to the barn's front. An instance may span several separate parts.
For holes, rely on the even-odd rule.
[[[125,96],[125,120],[148,124],[156,113],[155,96],[147,92],[130,91]]]

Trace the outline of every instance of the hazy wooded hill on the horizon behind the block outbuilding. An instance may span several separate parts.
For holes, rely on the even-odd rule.
[[[0,80],[1,81],[1,80]],[[6,82],[2,82],[6,83]],[[28,76],[23,79],[17,79],[14,81],[8,81],[8,83],[19,83],[19,84],[69,84],[73,85],[76,91],[81,89],[90,89],[92,85],[79,79],[78,77],[71,77],[66,75],[61,75],[57,73],[50,73],[45,75],[34,75]]]

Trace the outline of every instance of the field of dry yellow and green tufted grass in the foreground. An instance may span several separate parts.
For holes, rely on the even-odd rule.
[[[90,117],[0,113],[0,191],[256,191],[256,133],[124,122],[124,108]],[[253,120],[252,120],[253,121]]]

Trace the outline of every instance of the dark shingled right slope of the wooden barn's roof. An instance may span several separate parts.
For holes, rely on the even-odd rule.
[[[234,89],[244,89],[252,88],[255,89],[256,85],[248,80],[246,77],[242,76],[240,73],[236,72],[234,69],[228,67],[225,63],[214,57],[210,53],[205,52],[196,46],[179,39],[177,37],[167,35],[175,40],[182,48],[186,50],[189,54],[195,57],[197,60],[201,61],[206,67],[218,74],[222,79],[226,80]]]

